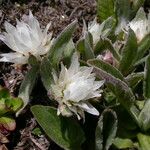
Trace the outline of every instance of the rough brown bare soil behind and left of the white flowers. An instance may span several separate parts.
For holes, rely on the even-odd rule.
[[[16,18],[21,19],[29,10],[37,17],[41,27],[44,28],[50,21],[52,26],[49,31],[56,37],[69,23],[78,20],[78,27],[73,40],[77,41],[82,34],[83,19],[88,23],[96,17],[96,0],[1,0],[0,1],[0,32],[4,31],[4,22],[15,25]],[[0,41],[0,53],[11,51]],[[24,78],[27,67],[16,69],[10,63],[0,63],[0,85],[8,88],[12,95],[18,95],[18,89]],[[7,137],[6,145],[0,144],[1,149],[9,150],[61,150],[54,142],[44,134],[34,135],[32,131],[38,127],[30,112],[30,106],[34,104],[49,104],[42,83],[37,82],[32,92],[31,102],[23,113],[16,118],[16,130]],[[38,88],[37,88],[38,87]],[[43,91],[41,91],[43,89]],[[40,93],[37,95],[37,93]]]

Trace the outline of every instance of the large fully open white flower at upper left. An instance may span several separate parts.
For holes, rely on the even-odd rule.
[[[40,58],[49,50],[52,34],[47,34],[47,31],[50,23],[42,31],[38,20],[31,11],[29,16],[26,16],[26,22],[17,20],[16,27],[8,22],[5,22],[4,25],[6,32],[0,35],[0,40],[15,52],[0,54],[1,62],[26,64],[30,54]]]

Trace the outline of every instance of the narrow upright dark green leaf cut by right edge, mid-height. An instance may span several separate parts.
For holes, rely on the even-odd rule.
[[[144,68],[144,85],[143,85],[143,91],[144,91],[144,97],[150,98],[150,55],[147,57],[145,68]]]

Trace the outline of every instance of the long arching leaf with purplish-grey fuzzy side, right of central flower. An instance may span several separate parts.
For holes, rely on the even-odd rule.
[[[107,72],[105,69],[101,68],[101,61],[89,60],[88,64],[94,68],[94,72],[97,77],[104,79],[105,84],[110,87],[112,92],[116,95],[118,101],[124,106],[124,108],[131,114],[136,122],[138,122],[139,111],[134,105],[135,96],[132,93],[132,90],[129,86],[121,81],[119,78],[116,78],[110,72]]]

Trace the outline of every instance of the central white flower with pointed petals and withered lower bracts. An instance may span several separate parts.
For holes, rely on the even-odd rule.
[[[84,111],[99,115],[99,112],[88,102],[89,99],[100,97],[102,90],[98,90],[104,81],[95,81],[92,67],[80,67],[78,56],[75,53],[72,63],[67,69],[61,64],[59,77],[53,72],[54,84],[51,85],[51,94],[59,103],[58,115],[76,114],[78,119],[84,118]]]

